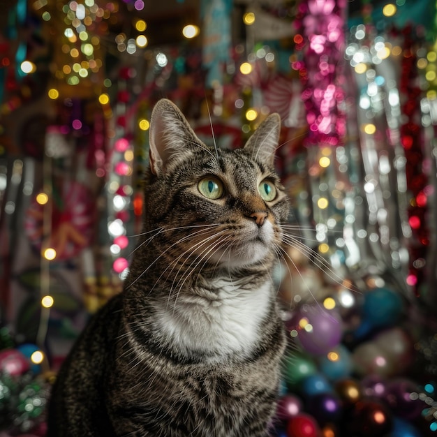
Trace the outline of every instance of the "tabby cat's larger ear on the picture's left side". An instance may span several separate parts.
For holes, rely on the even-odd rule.
[[[202,142],[191,129],[184,114],[166,98],[161,99],[151,112],[149,130],[150,170],[161,175],[170,161],[191,154],[190,146]],[[188,146],[188,147],[187,147]]]

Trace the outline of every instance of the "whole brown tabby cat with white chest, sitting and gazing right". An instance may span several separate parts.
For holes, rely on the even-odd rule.
[[[123,292],[61,366],[49,437],[269,436],[285,348],[272,284],[289,209],[280,127],[271,114],[230,151],[155,105],[144,233]]]

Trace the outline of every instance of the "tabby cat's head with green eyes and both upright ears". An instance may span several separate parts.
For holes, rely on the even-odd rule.
[[[275,258],[288,216],[274,170],[280,128],[279,115],[271,114],[241,149],[208,147],[172,102],[156,103],[145,230],[156,230],[151,244],[161,260],[232,269]]]

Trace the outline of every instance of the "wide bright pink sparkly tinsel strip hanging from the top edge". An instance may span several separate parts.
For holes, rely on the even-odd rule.
[[[299,31],[295,36],[302,60],[292,68],[299,71],[304,91],[302,100],[309,125],[308,145],[337,146],[343,142],[346,122],[341,111],[344,91],[338,74],[344,36],[343,0],[309,0],[299,4],[302,14]],[[299,25],[298,24],[298,25]]]

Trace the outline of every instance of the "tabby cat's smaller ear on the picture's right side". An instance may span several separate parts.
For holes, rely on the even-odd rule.
[[[274,112],[258,126],[244,145],[244,150],[249,151],[253,159],[273,165],[280,133],[281,117]]]

